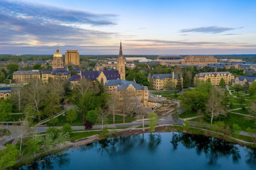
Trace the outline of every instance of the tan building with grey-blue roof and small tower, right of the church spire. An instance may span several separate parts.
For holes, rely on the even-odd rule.
[[[153,74],[149,73],[148,75],[148,82],[150,88],[153,90],[164,90],[166,85],[171,82],[173,83],[174,87],[176,87],[178,79],[181,79],[181,84],[183,84],[182,75],[177,75],[172,72],[171,74]]]

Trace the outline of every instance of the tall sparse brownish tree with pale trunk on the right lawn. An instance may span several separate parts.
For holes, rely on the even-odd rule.
[[[213,118],[226,113],[221,103],[222,95],[216,90],[216,88],[213,88],[206,104],[206,112],[211,115],[211,124],[213,124]]]

